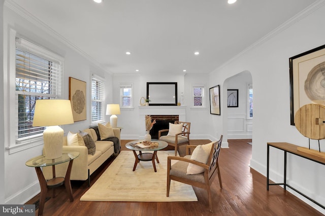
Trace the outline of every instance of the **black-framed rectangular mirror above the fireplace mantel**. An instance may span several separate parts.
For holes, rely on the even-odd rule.
[[[147,82],[149,106],[177,106],[177,82]]]

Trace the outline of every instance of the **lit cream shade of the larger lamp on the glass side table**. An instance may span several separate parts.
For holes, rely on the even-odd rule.
[[[37,100],[33,126],[74,123],[70,100]]]

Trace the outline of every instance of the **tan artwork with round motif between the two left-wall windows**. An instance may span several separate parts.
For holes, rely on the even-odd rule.
[[[86,82],[69,77],[69,100],[74,121],[86,120]]]

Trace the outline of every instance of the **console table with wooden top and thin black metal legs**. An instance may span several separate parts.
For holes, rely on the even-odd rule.
[[[283,189],[286,190],[286,187],[291,188],[292,190],[296,191],[297,193],[299,193],[300,195],[304,196],[305,198],[309,199],[310,201],[312,201],[313,203],[319,205],[320,207],[325,209],[325,206],[321,205],[320,203],[316,202],[315,200],[311,199],[310,197],[306,196],[305,194],[301,193],[300,191],[298,191],[297,189],[291,187],[290,185],[288,185],[286,183],[286,157],[287,157],[287,153],[290,154],[294,154],[297,155],[299,157],[303,157],[306,158],[308,160],[314,161],[316,163],[320,163],[325,165],[325,158],[322,157],[317,157],[315,155],[312,154],[308,154],[302,151],[298,151],[297,150],[297,145],[294,144],[290,144],[290,143],[267,143],[268,144],[268,149],[267,149],[267,190],[269,190],[269,186],[270,185],[283,185]],[[275,183],[275,184],[270,184],[269,182],[269,172],[270,172],[270,146],[280,149],[284,152],[284,173],[283,173],[283,183]]]

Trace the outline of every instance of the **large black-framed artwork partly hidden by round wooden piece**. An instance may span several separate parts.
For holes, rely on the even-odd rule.
[[[290,124],[306,104],[325,104],[325,45],[289,58]]]

